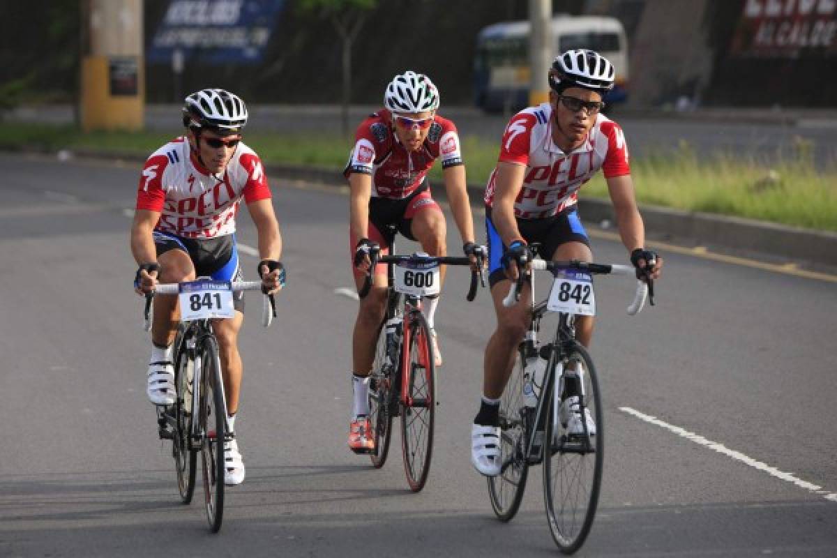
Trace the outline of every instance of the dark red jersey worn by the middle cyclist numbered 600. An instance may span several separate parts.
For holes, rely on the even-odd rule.
[[[393,132],[392,115],[381,109],[357,126],[355,146],[343,176],[372,175],[372,197],[408,197],[441,157],[442,168],[462,164],[460,136],[450,120],[436,115],[424,146],[408,151]]]

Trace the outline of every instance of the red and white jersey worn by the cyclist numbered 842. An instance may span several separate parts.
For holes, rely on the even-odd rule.
[[[564,153],[552,141],[552,105],[543,103],[514,115],[503,132],[499,161],[526,165],[523,187],[515,200],[521,219],[551,217],[578,202],[578,188],[602,169],[604,176],[630,174],[622,129],[598,115],[584,143]],[[497,169],[485,188],[485,205],[494,201]]]

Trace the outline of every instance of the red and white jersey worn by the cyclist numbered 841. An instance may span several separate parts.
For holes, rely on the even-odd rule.
[[[156,230],[186,238],[215,238],[235,232],[235,214],[247,203],[270,198],[264,167],[255,151],[239,142],[223,177],[216,178],[178,137],[151,154],[142,169],[136,208],[161,212]]]

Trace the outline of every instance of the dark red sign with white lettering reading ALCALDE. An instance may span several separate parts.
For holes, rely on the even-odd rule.
[[[837,57],[837,0],[746,0],[730,54]]]

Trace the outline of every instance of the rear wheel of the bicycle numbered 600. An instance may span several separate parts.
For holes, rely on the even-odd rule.
[[[393,363],[387,355],[386,319],[381,323],[375,347],[375,361],[369,378],[369,422],[375,433],[375,452],[372,465],[382,468],[387,461],[389,440],[393,433],[393,413],[390,412],[389,397],[393,388]]]

